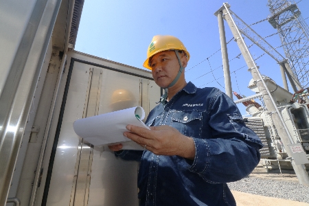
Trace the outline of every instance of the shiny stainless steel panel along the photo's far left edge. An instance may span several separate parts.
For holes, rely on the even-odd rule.
[[[5,45],[0,50],[0,205],[4,205],[60,1],[1,4],[1,14],[8,15],[0,24],[0,41]],[[16,21],[23,23],[21,27]]]

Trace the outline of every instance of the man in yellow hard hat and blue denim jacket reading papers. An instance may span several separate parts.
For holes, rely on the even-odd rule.
[[[151,130],[128,125],[124,136],[146,150],[115,155],[140,161],[140,205],[236,205],[227,187],[260,161],[260,139],[244,124],[236,104],[216,88],[185,81],[190,54],[174,36],[155,36],[144,67],[165,95],[148,115]]]

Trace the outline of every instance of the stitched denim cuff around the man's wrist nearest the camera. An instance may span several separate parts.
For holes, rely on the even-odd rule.
[[[210,163],[210,149],[207,140],[194,137],[192,139],[195,144],[195,157],[189,170],[196,173],[205,173]]]

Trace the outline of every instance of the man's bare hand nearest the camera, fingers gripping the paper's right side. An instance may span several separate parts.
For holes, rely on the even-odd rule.
[[[156,155],[179,155],[187,159],[195,157],[193,139],[182,135],[171,126],[152,126],[150,130],[133,125],[127,125],[126,128],[130,132],[125,132],[125,137],[146,146],[147,150]]]

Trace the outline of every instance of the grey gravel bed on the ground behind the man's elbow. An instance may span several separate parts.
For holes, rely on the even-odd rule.
[[[227,183],[230,190],[309,203],[309,187],[290,181],[246,177]]]

